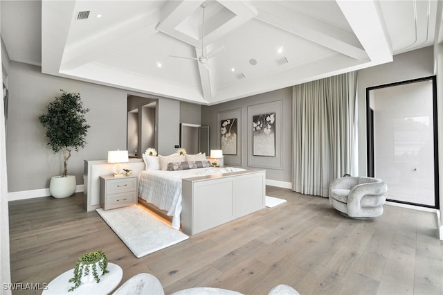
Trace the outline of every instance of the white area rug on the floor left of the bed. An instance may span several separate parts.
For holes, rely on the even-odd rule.
[[[96,211],[137,258],[189,238],[137,205]]]

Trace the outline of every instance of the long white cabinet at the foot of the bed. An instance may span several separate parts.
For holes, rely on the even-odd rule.
[[[183,179],[183,231],[195,235],[264,208],[265,183],[264,170]]]

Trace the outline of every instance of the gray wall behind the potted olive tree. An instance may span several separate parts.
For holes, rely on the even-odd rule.
[[[73,152],[68,163],[77,184],[83,184],[84,159],[107,159],[108,150],[126,150],[126,91],[44,75],[39,66],[19,62],[10,62],[9,74],[9,192],[48,188],[49,179],[62,173],[62,156],[46,144],[38,119],[60,89],[80,92],[84,106],[91,109],[86,116],[91,125],[87,145]]]

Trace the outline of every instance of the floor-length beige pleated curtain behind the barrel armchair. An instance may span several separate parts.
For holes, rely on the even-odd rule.
[[[327,197],[332,179],[354,173],[356,73],[293,87],[293,190]]]

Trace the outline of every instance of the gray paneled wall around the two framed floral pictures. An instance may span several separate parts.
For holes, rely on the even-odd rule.
[[[230,110],[233,113],[239,114],[239,123],[237,125],[237,156],[225,156],[224,162],[229,166],[238,166],[246,169],[260,168],[266,169],[266,179],[273,179],[277,181],[291,181],[291,138],[292,138],[292,88],[284,88],[268,93],[250,96],[239,100],[224,102],[219,105],[202,106],[201,107],[201,125],[209,125],[210,130],[210,149],[216,150],[220,148],[219,136],[220,122],[219,114],[227,114]],[[282,102],[282,113],[276,114],[279,118],[276,125],[276,130],[279,135],[281,148],[277,148],[276,156],[271,157],[253,157],[251,156],[251,118],[248,118],[248,109],[260,108],[261,105],[266,106],[269,102]],[[266,113],[266,111],[265,111]],[[280,117],[281,116],[281,117]],[[233,165],[237,163],[237,165]],[[252,163],[252,165],[251,165]],[[281,166],[281,168],[265,168],[265,167]]]

